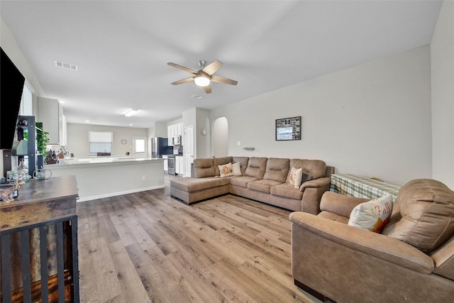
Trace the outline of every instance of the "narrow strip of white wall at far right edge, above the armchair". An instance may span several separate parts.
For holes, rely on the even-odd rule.
[[[454,2],[444,1],[431,43],[433,179],[454,190]]]

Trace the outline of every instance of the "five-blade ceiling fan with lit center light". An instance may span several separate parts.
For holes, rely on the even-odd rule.
[[[206,65],[205,60],[199,60],[198,64],[199,64],[200,70],[198,70],[198,71],[191,70],[190,68],[187,68],[187,67],[184,67],[181,65],[177,65],[172,62],[168,62],[167,64],[170,66],[173,66],[173,67],[177,67],[177,68],[184,70],[186,72],[189,72],[191,74],[194,74],[194,77],[181,79],[179,81],[173,82],[172,84],[177,85],[177,84],[194,81],[194,83],[196,85],[204,88],[204,91],[206,92],[206,94],[211,94],[211,85],[210,85],[211,81],[217,82],[217,83],[223,83],[223,84],[231,84],[231,85],[236,85],[238,83],[238,81],[235,81],[232,79],[213,75],[215,72],[217,72],[222,67],[222,62],[218,61],[218,60],[214,60],[209,65]]]

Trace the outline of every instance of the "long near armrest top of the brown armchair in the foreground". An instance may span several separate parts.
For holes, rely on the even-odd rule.
[[[295,211],[289,215],[290,221],[299,228],[338,243],[343,247],[360,251],[371,258],[379,258],[395,265],[415,270],[422,274],[430,274],[435,268],[432,258],[421,250],[396,238],[373,233],[360,228],[348,226],[312,214]],[[292,233],[298,228],[292,226]],[[292,246],[294,243],[292,243]]]

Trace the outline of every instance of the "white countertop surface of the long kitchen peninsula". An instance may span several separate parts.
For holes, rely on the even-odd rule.
[[[81,158],[63,158],[60,163],[46,164],[44,167],[62,167],[72,165],[92,165],[92,164],[115,164],[124,162],[143,162],[143,161],[162,161],[162,158],[139,158],[133,156],[100,156],[100,157],[81,157]]]

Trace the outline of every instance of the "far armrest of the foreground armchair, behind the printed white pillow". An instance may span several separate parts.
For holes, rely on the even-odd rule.
[[[350,218],[350,214],[358,204],[370,201],[370,199],[350,197],[337,192],[325,192],[321,196],[320,209],[321,211],[329,211],[333,214]]]

